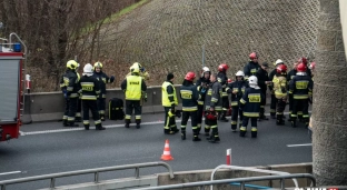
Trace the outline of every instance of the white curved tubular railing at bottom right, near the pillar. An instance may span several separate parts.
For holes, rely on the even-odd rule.
[[[237,167],[237,166],[229,166],[229,164],[220,164],[214,169],[211,172],[211,181],[214,180],[214,176],[218,169],[231,169],[231,170],[245,170],[245,171],[255,171],[255,172],[261,172],[261,173],[270,173],[270,174],[290,174],[288,172],[284,171],[275,171],[275,170],[264,170],[264,169],[258,169],[258,168],[251,168],[251,167]],[[284,181],[280,181],[284,182]],[[296,179],[293,179],[293,182],[296,188],[299,188],[298,181]],[[210,190],[214,190],[214,186],[210,187]]]

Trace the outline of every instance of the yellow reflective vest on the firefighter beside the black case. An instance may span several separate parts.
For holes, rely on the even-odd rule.
[[[126,100],[141,100],[142,78],[140,76],[127,77]]]

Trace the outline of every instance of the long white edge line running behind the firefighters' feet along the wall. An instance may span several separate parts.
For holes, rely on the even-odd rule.
[[[285,114],[288,114],[289,112],[285,112]],[[270,113],[265,113],[265,116],[270,116]],[[230,117],[227,117],[230,118]],[[202,118],[205,120],[205,118]],[[190,121],[190,120],[188,120]],[[181,122],[181,120],[176,120],[176,122]],[[163,121],[151,121],[151,122],[142,122],[141,126],[151,126],[151,124],[162,124]],[[125,124],[108,124],[103,126],[107,129],[111,128],[123,128]],[[96,127],[90,127],[90,129],[95,129]],[[68,129],[53,129],[53,130],[44,130],[44,131],[31,131],[31,132],[23,132],[20,131],[20,136],[33,136],[33,134],[46,134],[46,133],[56,133],[56,132],[70,132],[70,131],[82,131],[85,130],[83,127],[80,128],[68,128]]]

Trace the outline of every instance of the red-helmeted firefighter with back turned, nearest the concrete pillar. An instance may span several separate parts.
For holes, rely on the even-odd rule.
[[[297,73],[289,83],[289,90],[293,93],[293,111],[291,111],[291,127],[297,127],[296,118],[298,110],[303,110],[303,120],[308,127],[308,102],[313,94],[314,82],[307,73],[307,66],[299,63]]]

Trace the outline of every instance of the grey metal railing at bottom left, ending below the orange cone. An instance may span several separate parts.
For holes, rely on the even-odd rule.
[[[166,163],[166,162],[148,162],[148,163],[125,164],[125,166],[117,166],[117,167],[96,168],[96,169],[77,170],[77,171],[70,171],[70,172],[43,174],[43,176],[28,177],[28,178],[20,178],[20,179],[11,179],[11,180],[0,181],[0,187],[1,187],[1,190],[6,190],[6,186],[8,186],[8,184],[16,184],[16,183],[23,183],[23,182],[50,179],[50,188],[53,189],[53,188],[56,188],[56,179],[57,178],[79,176],[79,174],[89,174],[89,173],[95,174],[95,181],[93,182],[98,183],[100,172],[115,171],[115,170],[126,170],[126,169],[135,169],[135,178],[138,179],[140,177],[140,168],[158,167],[158,166],[162,166],[169,170],[170,179],[175,178],[172,168],[168,163]]]

